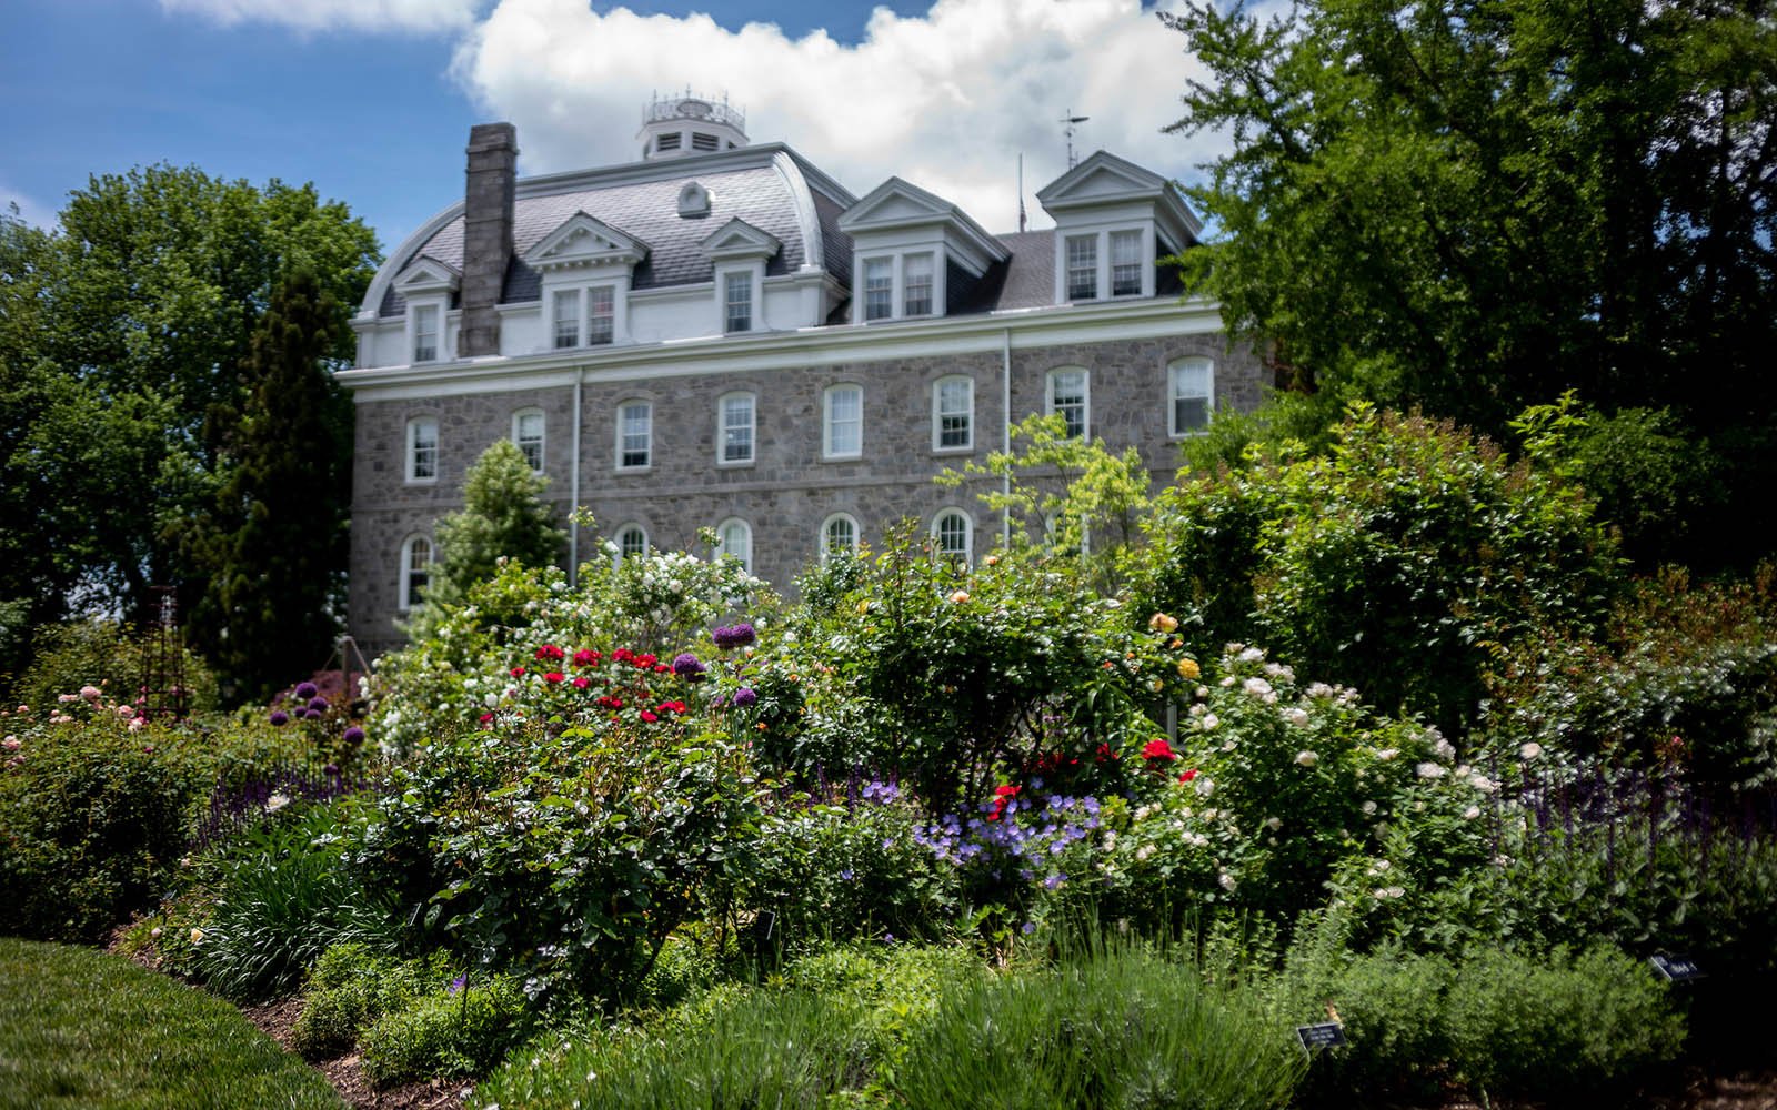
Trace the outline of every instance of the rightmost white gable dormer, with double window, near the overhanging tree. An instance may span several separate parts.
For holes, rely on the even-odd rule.
[[[1198,242],[1201,220],[1166,178],[1096,151],[1038,190],[1056,220],[1056,304],[1155,295],[1155,259]]]

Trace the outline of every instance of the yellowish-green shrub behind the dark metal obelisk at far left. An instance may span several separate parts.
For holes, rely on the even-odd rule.
[[[117,702],[133,703],[142,689],[147,636],[101,620],[82,620],[37,629],[30,670],[12,687],[16,705],[30,705],[48,714],[60,694],[96,686]],[[181,682],[188,691],[187,709],[204,712],[217,705],[217,678],[210,666],[179,646]]]

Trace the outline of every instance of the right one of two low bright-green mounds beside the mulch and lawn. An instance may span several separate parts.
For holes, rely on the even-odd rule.
[[[364,1076],[384,1087],[483,1074],[524,1039],[524,993],[505,975],[453,984],[377,1018],[359,1039]]]

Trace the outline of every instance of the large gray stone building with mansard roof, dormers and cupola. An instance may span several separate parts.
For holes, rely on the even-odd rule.
[[[462,204],[384,263],[354,320],[350,625],[370,650],[425,583],[464,471],[514,439],[572,529],[569,565],[714,527],[789,579],[913,517],[965,556],[1000,538],[944,469],[1061,412],[1157,480],[1265,371],[1159,259],[1199,224],[1104,151],[1038,190],[1048,231],[990,234],[890,178],[862,197],[698,98],[643,114],[641,158],[519,179],[512,124],[471,130]]]

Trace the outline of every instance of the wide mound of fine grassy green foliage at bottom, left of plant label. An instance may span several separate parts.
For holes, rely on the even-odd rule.
[[[1285,1106],[1304,1060],[1251,993],[1139,950],[949,995],[894,1092],[949,1106]]]

